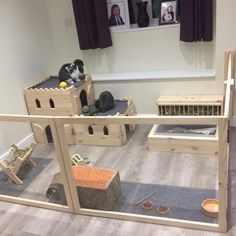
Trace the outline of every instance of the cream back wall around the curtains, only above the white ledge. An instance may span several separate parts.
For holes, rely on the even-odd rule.
[[[80,51],[71,1],[47,2],[60,63],[81,57],[91,73],[198,69],[215,65],[215,42],[180,42],[179,25],[113,32],[112,47]],[[70,26],[65,23],[68,19]]]

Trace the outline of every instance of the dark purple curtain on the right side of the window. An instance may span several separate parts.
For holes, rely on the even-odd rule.
[[[181,41],[211,41],[213,37],[212,25],[212,0],[180,0]]]

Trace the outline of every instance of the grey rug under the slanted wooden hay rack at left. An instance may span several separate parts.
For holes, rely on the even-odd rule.
[[[36,157],[33,157],[32,160],[35,162],[36,166],[24,166],[19,171],[18,176],[23,180],[23,184],[15,184],[9,181],[8,176],[3,171],[0,171],[0,194],[19,196],[51,161],[51,159]]]

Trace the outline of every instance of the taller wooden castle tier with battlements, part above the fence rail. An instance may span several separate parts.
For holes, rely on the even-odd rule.
[[[77,86],[59,88],[57,77],[49,77],[24,90],[26,106],[30,115],[72,116],[78,115],[84,105],[94,103],[91,76]],[[52,84],[52,86],[50,86]]]

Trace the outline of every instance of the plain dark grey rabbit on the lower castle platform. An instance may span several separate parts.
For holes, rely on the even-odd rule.
[[[109,91],[104,91],[95,101],[95,107],[100,112],[106,112],[115,107],[113,95]]]

